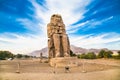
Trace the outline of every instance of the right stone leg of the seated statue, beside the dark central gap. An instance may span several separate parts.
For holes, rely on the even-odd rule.
[[[70,56],[70,43],[66,34],[62,35],[62,45],[64,50],[64,56]]]

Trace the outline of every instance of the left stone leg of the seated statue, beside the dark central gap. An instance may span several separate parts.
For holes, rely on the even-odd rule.
[[[60,57],[60,35],[53,35],[54,47],[55,47],[55,57]]]

